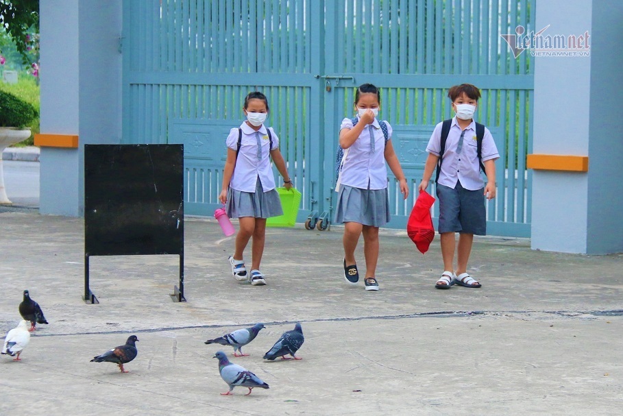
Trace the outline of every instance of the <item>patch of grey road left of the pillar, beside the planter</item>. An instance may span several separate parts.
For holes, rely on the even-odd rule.
[[[15,206],[39,206],[39,162],[3,160],[4,185]]]

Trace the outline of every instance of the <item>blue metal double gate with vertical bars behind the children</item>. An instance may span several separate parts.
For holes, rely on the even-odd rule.
[[[339,123],[354,88],[381,88],[381,117],[411,186],[390,178],[390,227],[404,228],[450,86],[482,90],[477,119],[496,139],[498,197],[489,234],[530,235],[533,60],[501,34],[533,28],[535,0],[126,0],[123,143],[184,143],[186,213],[218,206],[225,136],[245,95],[269,98],[299,221],[330,212]]]

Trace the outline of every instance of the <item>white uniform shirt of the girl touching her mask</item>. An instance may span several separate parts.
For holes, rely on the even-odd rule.
[[[387,125],[388,137],[391,138],[391,125]],[[370,147],[369,125],[349,147],[346,161],[342,167],[341,184],[361,189],[387,188],[387,167],[385,166],[385,136],[376,118],[371,124],[374,132],[374,153]],[[343,119],[342,129],[352,129],[351,119]]]

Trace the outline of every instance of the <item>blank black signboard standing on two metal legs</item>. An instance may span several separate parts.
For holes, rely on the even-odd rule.
[[[178,254],[184,299],[184,146],[84,145],[84,300],[89,256]]]

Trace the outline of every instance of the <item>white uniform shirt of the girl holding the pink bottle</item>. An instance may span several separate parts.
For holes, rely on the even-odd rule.
[[[260,142],[262,143],[262,158],[258,160],[258,143],[255,130],[249,127],[246,122],[242,123],[240,128],[243,131],[242,144],[240,153],[236,159],[234,174],[230,180],[230,187],[236,191],[254,193],[259,176],[263,191],[268,192],[273,190],[276,186],[269,154],[271,150],[278,149],[279,138],[272,127],[268,127],[273,138],[273,148],[269,149],[270,140],[266,130],[267,127],[263,124],[260,126],[258,133],[260,134]],[[239,130],[232,129],[227,136],[227,140],[225,140],[227,147],[234,151],[238,149],[238,135]]]

